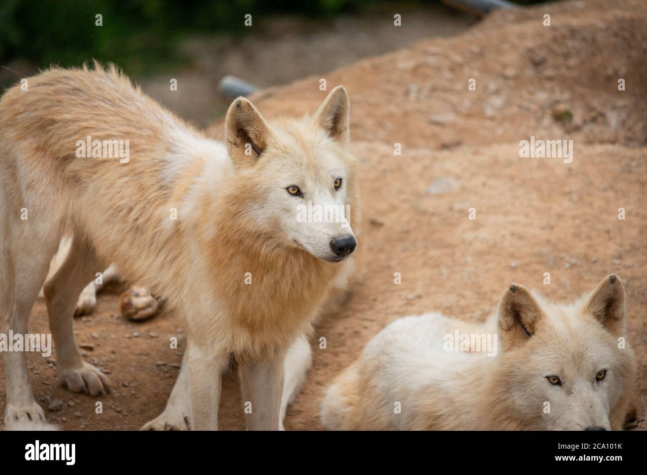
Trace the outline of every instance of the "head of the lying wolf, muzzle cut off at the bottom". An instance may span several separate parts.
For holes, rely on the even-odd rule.
[[[572,305],[510,285],[498,317],[505,416],[534,429],[621,428],[636,372],[624,315],[624,286],[613,274]]]

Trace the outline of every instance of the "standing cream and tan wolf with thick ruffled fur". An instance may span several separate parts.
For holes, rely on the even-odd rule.
[[[82,359],[72,316],[83,287],[114,263],[188,327],[188,371],[183,364],[169,414],[186,408],[190,388],[193,428],[217,428],[221,370],[234,354],[252,407],[247,427],[280,428],[285,368],[303,371],[303,335],[354,266],[347,222],[298,219],[312,202],[349,205],[358,222],[345,89],[297,119],[266,121],[239,98],[219,143],[114,67],[53,68],[26,84],[0,101],[0,332],[27,332],[50,259],[71,235],[67,259],[44,288],[67,388],[108,391],[105,375]],[[293,344],[298,361],[285,361]],[[5,420],[44,419],[25,353],[7,352],[4,361]]]

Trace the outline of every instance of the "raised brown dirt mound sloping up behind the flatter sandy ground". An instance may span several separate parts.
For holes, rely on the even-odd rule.
[[[545,13],[551,26],[543,26]],[[347,86],[355,139],[438,148],[569,134],[644,145],[646,20],[639,0],[500,11],[466,34],[422,41],[325,79],[329,87]],[[261,92],[263,111],[316,107],[325,95],[319,79]],[[470,79],[476,90],[468,90]],[[433,120],[438,114],[447,116],[443,123]]]

